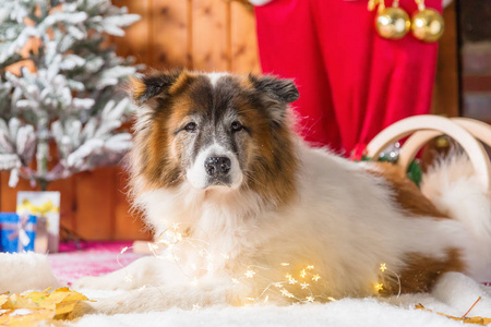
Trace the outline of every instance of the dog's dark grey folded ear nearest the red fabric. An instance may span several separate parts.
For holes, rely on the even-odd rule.
[[[254,90],[261,95],[268,113],[275,123],[282,123],[286,116],[287,105],[296,101],[300,94],[294,81],[275,76],[249,75]]]

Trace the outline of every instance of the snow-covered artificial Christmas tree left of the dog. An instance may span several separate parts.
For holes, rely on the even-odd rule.
[[[121,83],[136,68],[105,41],[139,19],[110,0],[0,0],[0,169],[11,171],[9,185],[22,177],[46,189],[121,159],[133,109]]]

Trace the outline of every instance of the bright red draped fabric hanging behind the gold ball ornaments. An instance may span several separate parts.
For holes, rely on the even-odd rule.
[[[426,4],[442,10],[441,0]],[[400,7],[417,10],[414,0]],[[348,154],[385,126],[430,112],[438,44],[410,33],[380,37],[366,0],[273,0],[255,14],[263,72],[296,81],[299,133],[313,145]]]

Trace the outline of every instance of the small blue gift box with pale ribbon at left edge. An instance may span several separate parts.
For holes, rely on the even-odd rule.
[[[0,252],[34,251],[36,216],[0,213]]]

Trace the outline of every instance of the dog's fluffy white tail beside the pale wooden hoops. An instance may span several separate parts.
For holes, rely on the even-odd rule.
[[[431,167],[421,182],[422,193],[448,217],[462,221],[476,241],[474,259],[481,271],[472,277],[491,280],[491,197],[465,154],[452,153]],[[488,270],[488,271],[486,271]]]

